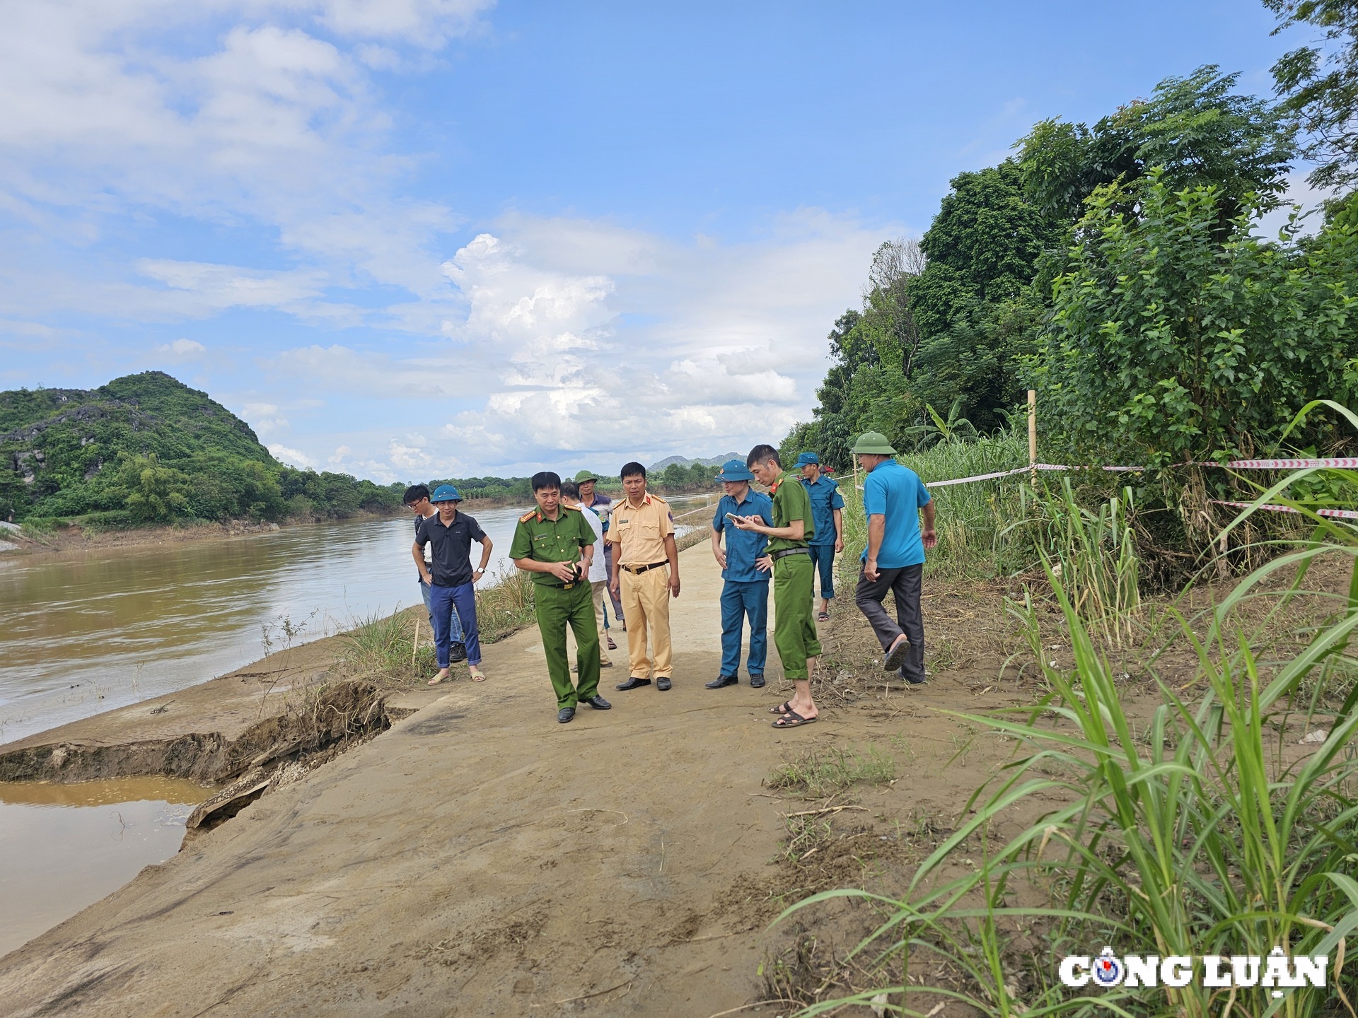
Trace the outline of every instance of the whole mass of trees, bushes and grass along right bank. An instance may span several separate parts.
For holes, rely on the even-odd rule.
[[[1358,471],[1203,466],[1358,447],[1358,14],[1268,5],[1334,43],[1279,62],[1282,102],[1202,68],[1093,126],[1038,124],[1016,157],[953,181],[918,244],[879,250],[862,308],[830,333],[785,455],[845,471],[872,429],[925,482],[1024,467],[1035,388],[1043,459],[1077,468],[934,490],[926,582],[1004,585],[1032,702],[945,711],[1008,756],[894,886],[841,884],[779,918],[813,930],[842,899],[869,915],[813,983],[789,976],[811,939],[767,966],[800,1015],[1355,1014],[1358,525],[1317,510],[1358,508]],[[1343,187],[1310,235],[1294,216],[1262,239],[1298,152]],[[847,590],[866,528],[845,498]],[[770,785],[805,789],[827,761],[809,752]],[[812,835],[828,844],[837,802],[789,814],[800,858]],[[1324,954],[1329,983],[1274,998],[1057,980],[1063,956],[1104,945]]]

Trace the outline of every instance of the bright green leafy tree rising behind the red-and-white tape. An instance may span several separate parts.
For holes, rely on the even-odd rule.
[[[1251,236],[1258,202],[1221,243],[1232,201],[1160,170],[1090,195],[1042,358],[1065,445],[1149,466],[1251,455],[1312,399],[1358,395],[1358,200],[1297,246]]]

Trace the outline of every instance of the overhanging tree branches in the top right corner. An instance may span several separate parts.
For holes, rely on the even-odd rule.
[[[1302,46],[1274,64],[1283,109],[1297,114],[1309,143],[1301,153],[1319,166],[1310,182],[1323,189],[1358,185],[1358,0],[1264,0],[1278,15],[1278,34],[1313,24],[1331,43]]]

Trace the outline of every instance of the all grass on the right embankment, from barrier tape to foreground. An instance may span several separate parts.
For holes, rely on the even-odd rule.
[[[1036,494],[1019,479],[998,483],[994,505],[1005,498],[1004,485],[1017,485],[1025,512],[991,529],[991,567],[1016,551],[1019,561],[1031,557],[1043,569],[1040,578],[1031,570],[1017,577],[1023,596],[1008,604],[1028,643],[1039,699],[1031,707],[955,714],[1005,740],[1013,757],[960,804],[956,831],[899,890],[868,894],[841,882],[839,890],[785,913],[807,924],[815,911],[800,909],[838,897],[880,913],[876,931],[851,953],[864,966],[865,977],[851,984],[861,991],[834,999],[816,992],[797,1014],[869,1002],[889,1014],[923,1014],[945,999],[1002,1018],[1092,1014],[1095,1007],[1148,1018],[1226,1010],[1351,1014],[1340,1003],[1358,999],[1358,975],[1340,961],[1358,930],[1351,875],[1358,859],[1358,657],[1351,650],[1358,527],[1313,517],[1315,532],[1271,546],[1266,565],[1234,589],[1203,584],[1192,590],[1190,584],[1179,599],[1161,599],[1154,605],[1161,635],[1154,635],[1123,495],[1082,505],[1067,483],[1040,486]],[[937,493],[940,513],[944,493],[956,490]],[[964,520],[971,512],[983,524],[983,505],[964,497],[952,512]],[[846,519],[853,516],[846,512]],[[926,576],[967,567],[985,547],[980,529],[949,548],[940,525]],[[1328,619],[1324,605],[1309,618],[1298,611],[1308,570],[1320,559],[1340,563],[1351,577]],[[1207,601],[1198,616],[1180,612],[1187,593]],[[1309,593],[1323,603],[1336,596]],[[1266,626],[1291,630],[1290,646],[1270,650],[1275,660],[1260,653]],[[1047,653],[1054,627],[1061,666]],[[1168,639],[1171,628],[1192,661],[1175,681],[1156,677],[1148,661],[1158,702],[1148,728],[1128,717],[1127,676],[1111,665],[1109,649],[1146,660],[1152,642]],[[800,850],[809,835],[799,833]],[[1328,985],[1289,988],[1277,999],[1268,987],[1206,987],[1202,962],[1199,979],[1186,987],[1123,985],[1090,999],[1059,983],[1063,956],[1096,953],[1105,943],[1119,956],[1194,958],[1263,957],[1282,946],[1293,957],[1327,956]]]

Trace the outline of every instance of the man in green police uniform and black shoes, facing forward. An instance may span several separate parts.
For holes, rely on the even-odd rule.
[[[612,707],[599,695],[599,623],[589,586],[595,532],[579,509],[561,504],[561,478],[551,471],[532,475],[532,497],[538,508],[519,517],[509,558],[532,578],[538,631],[557,692],[557,721],[565,725],[576,717],[577,703],[595,710]],[[579,649],[579,688],[570,683],[568,624]]]

